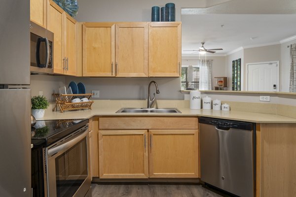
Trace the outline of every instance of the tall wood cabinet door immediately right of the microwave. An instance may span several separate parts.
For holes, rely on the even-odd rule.
[[[64,30],[63,9],[49,0],[47,8],[47,29],[54,33],[53,72],[64,74]]]

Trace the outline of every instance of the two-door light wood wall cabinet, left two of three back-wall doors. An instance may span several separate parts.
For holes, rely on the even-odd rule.
[[[83,76],[148,76],[148,23],[84,23],[82,28]]]

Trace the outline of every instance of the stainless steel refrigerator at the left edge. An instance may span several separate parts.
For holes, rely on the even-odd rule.
[[[30,0],[0,2],[0,197],[30,197]]]

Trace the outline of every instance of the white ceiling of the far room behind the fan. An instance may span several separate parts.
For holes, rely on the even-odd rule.
[[[296,14],[182,14],[181,20],[183,56],[198,56],[184,50],[197,50],[200,42],[206,49],[223,48],[215,53],[222,56],[296,35]]]

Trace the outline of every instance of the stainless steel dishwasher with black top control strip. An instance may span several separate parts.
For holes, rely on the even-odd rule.
[[[200,179],[240,197],[255,197],[254,124],[199,118]]]

